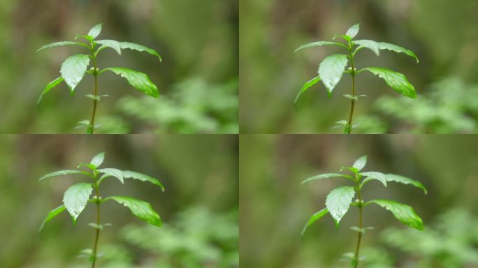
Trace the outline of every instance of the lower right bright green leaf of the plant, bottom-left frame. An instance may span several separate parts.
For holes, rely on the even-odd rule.
[[[123,204],[124,207],[129,208],[131,213],[138,217],[141,221],[145,221],[152,225],[161,227],[161,218],[159,215],[152,209],[151,204],[145,201],[137,200],[129,196],[110,196],[106,200],[113,199],[119,204]]]

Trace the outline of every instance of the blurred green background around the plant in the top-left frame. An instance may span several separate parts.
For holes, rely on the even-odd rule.
[[[0,133],[83,133],[89,119],[93,78],[87,75],[71,98],[66,84],[36,99],[59,76],[66,57],[82,48],[48,43],[73,40],[103,22],[100,39],[152,47],[147,53],[104,51],[99,67],[146,73],[161,97],[145,98],[122,78],[101,75],[98,133],[238,133],[237,0],[0,0]],[[104,54],[103,54],[104,53]]]

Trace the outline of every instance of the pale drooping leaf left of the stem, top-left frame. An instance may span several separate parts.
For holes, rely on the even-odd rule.
[[[85,76],[88,64],[89,57],[85,54],[75,54],[68,57],[68,59],[61,64],[61,77],[64,78],[72,93],[78,83],[83,79],[83,76]]]

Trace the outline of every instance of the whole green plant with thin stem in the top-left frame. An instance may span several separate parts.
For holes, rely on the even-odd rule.
[[[118,42],[116,40],[95,40],[95,38],[98,37],[99,34],[101,33],[101,25],[102,24],[95,25],[92,29],[89,30],[87,35],[78,35],[75,37],[75,39],[85,38],[85,40],[87,40],[87,43],[70,42],[70,41],[57,42],[57,43],[52,43],[49,45],[44,45],[43,47],[41,47],[39,50],[36,51],[36,53],[38,53],[39,51],[49,47],[59,47],[63,45],[80,45],[82,47],[87,48],[87,50],[89,50],[89,54],[75,54],[71,57],[68,57],[63,62],[63,64],[61,64],[61,69],[60,69],[61,76],[47,84],[45,89],[43,89],[43,92],[40,95],[40,98],[38,98],[38,101],[37,101],[37,105],[39,106],[41,104],[41,101],[43,100],[43,96],[45,96],[45,94],[47,94],[53,87],[56,87],[59,83],[63,81],[66,82],[66,84],[68,85],[70,89],[70,94],[71,96],[73,96],[73,94],[75,94],[75,87],[80,83],[83,76],[85,76],[85,73],[89,73],[93,75],[94,76],[94,92],[93,92],[94,94],[85,95],[87,98],[90,98],[93,101],[92,116],[90,120],[83,120],[78,122],[78,126],[85,127],[87,130],[87,133],[89,134],[93,134],[94,129],[99,127],[99,125],[94,124],[96,106],[98,105],[99,101],[101,101],[101,98],[108,97],[108,95],[101,95],[101,96],[99,95],[98,76],[101,75],[101,73],[104,73],[107,70],[110,70],[111,72],[124,77],[132,87],[134,87],[135,89],[138,89],[144,94],[148,96],[152,96],[154,98],[159,97],[159,92],[156,85],[154,85],[151,82],[150,78],[144,73],[140,73],[136,70],[132,70],[129,68],[122,68],[122,67],[110,67],[110,68],[105,68],[103,70],[99,69],[98,62],[97,62],[97,57],[99,55],[99,52],[105,50],[108,47],[115,50],[119,55],[121,55],[122,49],[147,52],[149,54],[157,56],[159,58],[159,61],[161,61],[161,56],[159,56],[156,50],[153,50],[149,47],[145,47],[144,45],[138,45],[138,44],[129,43],[129,42]],[[87,67],[90,61],[93,61],[93,67],[90,70],[87,70]]]

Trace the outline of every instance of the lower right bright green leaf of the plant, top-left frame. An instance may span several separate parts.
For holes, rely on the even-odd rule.
[[[152,96],[154,98],[159,97],[159,92],[156,85],[154,85],[151,82],[150,77],[147,77],[147,75],[145,75],[144,73],[140,73],[136,70],[131,70],[129,68],[119,67],[106,68],[105,70],[110,70],[113,73],[116,73],[117,75],[121,75],[122,77],[126,78],[126,80],[128,80],[131,86],[143,92],[144,94]]]

